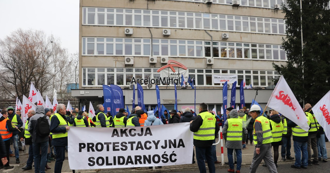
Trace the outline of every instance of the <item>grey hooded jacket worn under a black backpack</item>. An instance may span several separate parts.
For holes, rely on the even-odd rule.
[[[48,136],[41,137],[41,136],[39,136],[37,134],[38,119],[40,117],[45,116],[44,113],[45,113],[44,107],[41,106],[41,105],[37,105],[37,107],[36,107],[36,114],[33,115],[30,118],[29,125],[28,125],[28,131],[32,135],[32,142],[45,142],[45,141],[48,141],[49,140]],[[50,126],[50,119],[49,119],[49,117],[46,116],[46,119],[48,120],[48,124]]]

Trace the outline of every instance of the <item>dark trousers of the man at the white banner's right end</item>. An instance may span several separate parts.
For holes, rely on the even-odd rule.
[[[209,172],[215,173],[215,165],[214,165],[214,161],[212,158],[212,146],[209,146],[209,147],[195,146],[195,149],[196,149],[196,160],[197,160],[199,172],[206,173],[206,167],[205,167],[205,162],[204,162],[204,157],[206,157],[207,165],[209,167]],[[57,172],[55,171],[55,173],[57,173]]]

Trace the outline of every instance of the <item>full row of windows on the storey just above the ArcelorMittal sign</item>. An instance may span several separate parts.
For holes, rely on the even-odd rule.
[[[151,39],[83,37],[82,55],[151,56]],[[213,49],[212,49],[213,47]],[[153,56],[286,60],[281,45],[152,39]]]

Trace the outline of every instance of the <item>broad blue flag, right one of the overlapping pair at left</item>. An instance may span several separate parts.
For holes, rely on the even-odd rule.
[[[116,115],[120,108],[125,108],[123,90],[118,85],[111,84],[110,87],[112,89],[111,94],[113,98],[112,115]]]

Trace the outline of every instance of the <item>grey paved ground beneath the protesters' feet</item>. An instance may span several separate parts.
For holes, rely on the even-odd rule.
[[[291,147],[291,156],[294,157],[294,152],[293,152],[293,141],[292,142],[292,147]],[[327,146],[327,151],[330,152],[330,142],[326,142]],[[26,146],[28,147],[28,146]],[[249,149],[242,150],[242,168],[241,172],[248,172],[249,166],[252,161],[253,157],[253,152],[254,152],[254,146],[248,145]],[[11,145],[11,148],[13,150],[13,145]],[[281,150],[281,149],[280,149]],[[221,161],[221,147],[220,144],[216,146],[216,151],[217,151],[217,159],[218,161]],[[34,169],[24,171],[21,169],[24,167],[26,164],[26,160],[28,158],[28,154],[24,153],[23,151],[20,151],[20,164],[16,164],[15,162],[15,157],[10,158],[10,165],[14,165],[15,167],[13,169],[8,169],[4,170],[1,169],[1,173],[34,173]],[[67,155],[67,153],[66,153]],[[280,158],[281,160],[281,154]],[[224,148],[224,161],[227,162],[227,150]],[[319,173],[319,172],[330,172],[330,161],[329,162],[320,162],[319,165],[313,165],[309,166],[307,169],[294,169],[291,168],[290,165],[292,165],[294,161],[279,161],[278,165],[278,172],[290,172],[290,173]],[[54,164],[55,162],[48,163],[48,165],[51,167],[51,169],[47,170],[46,173],[52,173],[54,172]],[[222,164],[216,164],[216,172],[227,172],[227,169],[229,169],[228,165],[223,165]],[[183,164],[183,165],[171,165],[171,166],[163,166],[162,168],[157,168],[155,170],[149,169],[148,167],[141,167],[138,169],[132,169],[132,168],[124,168],[124,169],[89,169],[89,170],[75,170],[76,172],[98,172],[98,173],[123,173],[123,172],[128,172],[128,173],[145,173],[145,172],[183,172],[183,173],[194,173],[194,172],[199,172],[197,162],[195,164]],[[69,163],[68,160],[65,160],[63,163],[63,168],[62,172],[72,172],[69,168]],[[268,172],[268,169],[266,167],[263,167],[261,164],[258,167],[257,172]]]

